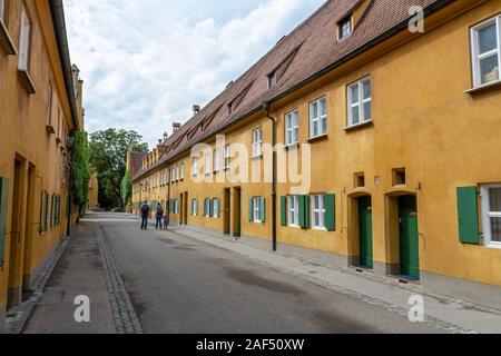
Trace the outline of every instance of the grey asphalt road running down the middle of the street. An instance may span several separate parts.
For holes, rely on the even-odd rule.
[[[136,219],[98,215],[146,333],[439,333]]]

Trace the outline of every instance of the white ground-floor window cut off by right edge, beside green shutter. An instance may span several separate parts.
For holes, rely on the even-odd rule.
[[[482,187],[482,219],[485,243],[501,247],[501,184]]]

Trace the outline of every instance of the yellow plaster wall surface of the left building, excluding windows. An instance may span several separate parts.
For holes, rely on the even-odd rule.
[[[59,61],[56,37],[47,1],[27,1],[31,19],[29,75],[36,93],[29,95],[18,75],[17,56],[0,48],[0,177],[8,178],[6,258],[0,269],[0,310],[19,301],[22,285],[28,287],[42,260],[66,236],[66,201],[69,186],[66,136],[71,130],[70,102]],[[21,1],[8,1],[7,28],[19,43]],[[52,86],[51,126],[46,131],[49,83]],[[57,140],[57,138],[59,140]],[[14,161],[20,178],[14,181]],[[18,189],[14,189],[18,187]],[[14,195],[19,191],[19,196]],[[60,222],[40,233],[42,191],[60,197]],[[1,314],[1,313],[0,313]]]

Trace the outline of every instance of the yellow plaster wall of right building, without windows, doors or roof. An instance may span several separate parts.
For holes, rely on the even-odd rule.
[[[456,188],[501,181],[501,93],[499,89],[465,92],[472,88],[470,27],[501,11],[499,1],[478,4],[446,21],[445,16],[452,13],[445,11],[439,27],[411,40],[409,34],[396,37],[273,107],[271,115],[277,119],[282,144],[285,113],[299,110],[297,149],[302,154],[308,144],[312,152],[308,192],[336,197],[334,231],[283,227],[279,197],[289,195],[292,187],[279,184],[278,241],[332,253],[346,258],[346,264],[356,264],[357,198],[371,196],[374,263],[384,274],[393,274],[400,260],[395,199],[412,195],[418,200],[421,271],[501,286],[501,249],[460,243],[458,227]],[[346,86],[366,76],[372,81],[373,123],[346,130]],[[311,141],[308,103],[323,96],[328,107],[328,135]],[[225,132],[227,144],[244,144],[250,151],[252,131],[259,126],[264,140],[271,142],[271,123],[263,113]],[[208,144],[214,149],[214,140]],[[242,234],[271,239],[269,184],[194,184],[188,154],[169,165],[180,160],[185,161],[186,178],[171,185],[170,196],[188,192],[188,209],[193,198],[199,199],[199,215],[188,216],[188,225],[223,230],[223,218],[200,216],[203,201],[223,200],[225,188],[240,187]],[[252,165],[253,160],[248,161]],[[200,171],[203,162],[200,156]],[[400,168],[405,168],[405,185],[394,186],[393,169]],[[365,186],[357,188],[354,176],[360,172]],[[248,199],[253,196],[266,198],[266,222],[248,221]],[[174,216],[174,220],[179,217]],[[234,221],[232,211],[232,231]]]

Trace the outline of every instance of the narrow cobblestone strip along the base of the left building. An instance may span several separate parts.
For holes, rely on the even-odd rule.
[[[38,304],[38,301],[40,301],[43,295],[43,290],[46,289],[46,285],[49,281],[49,278],[52,275],[53,269],[61,259],[61,256],[65,253],[70,239],[71,237],[67,237],[65,240],[62,240],[62,243],[50,256],[49,260],[47,260],[46,265],[43,266],[43,269],[37,276],[31,286],[33,294],[28,300],[23,301],[14,310],[9,312],[9,315],[7,316],[6,326],[3,329],[0,330],[0,334],[22,333],[28,319],[31,316],[31,313],[35,309],[35,306]]]

